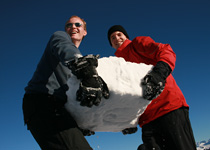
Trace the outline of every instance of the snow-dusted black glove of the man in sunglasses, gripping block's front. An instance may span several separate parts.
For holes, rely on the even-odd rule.
[[[87,55],[68,64],[72,73],[81,80],[76,95],[81,106],[98,106],[102,96],[106,99],[109,98],[109,89],[96,70],[98,58],[99,55]]]

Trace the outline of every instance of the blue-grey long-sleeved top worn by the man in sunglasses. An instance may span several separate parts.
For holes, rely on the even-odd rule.
[[[26,93],[50,94],[66,99],[67,80],[71,73],[66,63],[75,57],[81,57],[81,53],[71,37],[64,31],[55,32],[47,44],[32,79],[25,87]]]

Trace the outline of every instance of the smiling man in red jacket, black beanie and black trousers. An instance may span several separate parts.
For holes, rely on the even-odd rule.
[[[143,97],[152,102],[139,118],[144,144],[138,149],[196,150],[189,106],[171,74],[176,61],[171,46],[146,36],[131,41],[120,25],[109,29],[108,40],[117,57],[154,66],[142,81]]]

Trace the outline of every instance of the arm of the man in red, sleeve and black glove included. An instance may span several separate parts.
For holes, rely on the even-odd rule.
[[[143,97],[155,99],[164,90],[166,78],[175,67],[176,55],[169,44],[156,43],[150,37],[134,39],[136,51],[154,68],[143,79]],[[148,63],[147,62],[147,63]]]

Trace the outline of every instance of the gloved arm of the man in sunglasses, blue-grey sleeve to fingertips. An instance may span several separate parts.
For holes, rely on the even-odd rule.
[[[49,45],[53,55],[81,80],[77,91],[77,100],[80,101],[80,105],[97,106],[102,96],[109,97],[108,87],[96,71],[98,57],[93,55],[82,57],[79,49],[72,43],[70,36],[63,31],[55,32]]]

